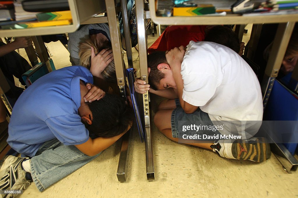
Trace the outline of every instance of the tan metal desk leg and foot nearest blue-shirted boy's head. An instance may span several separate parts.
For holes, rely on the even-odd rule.
[[[117,19],[115,2],[114,0],[105,0],[107,8],[107,17],[111,35],[112,50],[114,54],[114,62],[117,76],[117,84],[119,86],[120,95],[125,97],[125,75],[124,75],[124,61],[122,55],[122,47],[120,40],[119,23]],[[120,182],[125,182],[128,171],[128,156],[129,156],[129,143],[128,134],[125,134],[122,138],[121,153],[119,157],[117,177]]]

